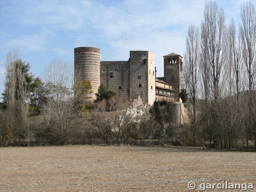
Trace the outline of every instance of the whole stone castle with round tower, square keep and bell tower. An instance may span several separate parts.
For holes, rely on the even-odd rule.
[[[164,77],[156,77],[153,52],[130,51],[127,61],[100,61],[100,49],[95,47],[77,47],[74,54],[75,70],[92,84],[93,93],[102,83],[120,97],[134,100],[140,96],[149,105],[155,100],[181,102],[183,62],[178,54],[164,56]]]

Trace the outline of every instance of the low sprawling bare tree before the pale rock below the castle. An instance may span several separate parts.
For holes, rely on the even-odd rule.
[[[144,106],[142,101],[132,107],[125,98],[103,99],[94,106],[92,127],[101,133],[107,143],[134,144],[148,134],[145,133],[148,111],[149,106]]]

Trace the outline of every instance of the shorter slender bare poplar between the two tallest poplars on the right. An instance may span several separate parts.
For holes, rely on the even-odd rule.
[[[223,98],[220,102],[221,138],[223,138],[223,147],[231,148],[236,145],[238,128],[241,126],[239,120],[239,100],[238,95],[241,91],[242,67],[241,67],[241,46],[236,37],[236,26],[231,19],[227,30],[227,59],[224,65],[224,87]],[[236,99],[235,99],[236,98]]]

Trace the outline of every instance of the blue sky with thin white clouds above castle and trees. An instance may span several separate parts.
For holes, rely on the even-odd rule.
[[[206,0],[0,0],[0,93],[6,54],[19,49],[39,76],[55,58],[73,63],[74,48],[101,49],[101,60],[128,60],[129,51],[155,53],[156,76],[163,55],[183,56],[189,24],[200,26]],[[216,1],[228,25],[240,22],[243,0]],[[251,1],[256,5],[256,0]]]

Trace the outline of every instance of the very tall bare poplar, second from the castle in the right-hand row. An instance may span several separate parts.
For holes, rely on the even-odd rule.
[[[215,1],[205,4],[201,22],[202,80],[205,95],[204,120],[208,138],[222,147],[223,124],[220,98],[223,91],[223,66],[226,54],[225,13]]]

